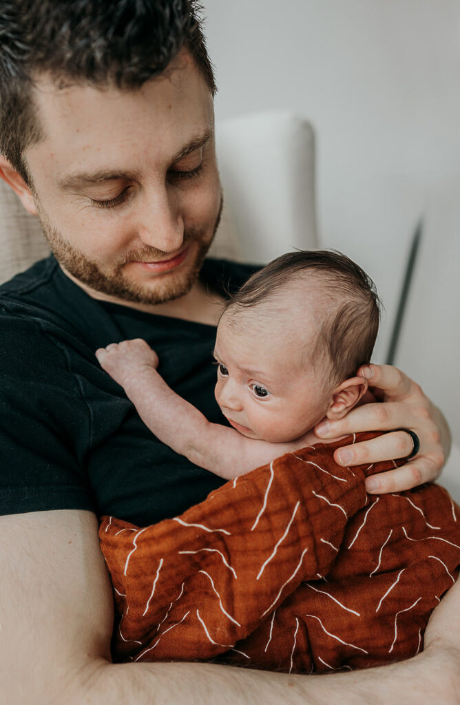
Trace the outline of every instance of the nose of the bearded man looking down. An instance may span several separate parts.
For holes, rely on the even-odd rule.
[[[140,240],[162,252],[176,252],[183,243],[183,216],[178,202],[166,189],[146,192],[138,213]]]

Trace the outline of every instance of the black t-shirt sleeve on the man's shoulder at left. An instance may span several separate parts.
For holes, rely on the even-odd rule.
[[[85,474],[90,413],[59,339],[0,313],[0,514],[95,510]]]

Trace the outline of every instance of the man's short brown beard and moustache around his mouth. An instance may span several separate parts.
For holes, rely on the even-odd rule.
[[[184,233],[181,250],[184,247],[190,245],[193,247],[195,245],[193,247],[195,254],[192,255],[190,253],[188,255],[188,257],[193,256],[193,262],[186,261],[183,269],[179,266],[178,271],[173,269],[171,272],[167,272],[166,276],[152,276],[150,283],[145,283],[145,281],[138,283],[133,278],[126,276],[123,271],[123,267],[128,262],[155,262],[162,259],[170,259],[171,255],[148,245],[141,248],[133,248],[128,250],[116,264],[111,266],[109,273],[105,273],[97,262],[89,259],[83,252],[72,247],[64,240],[61,233],[49,223],[46,214],[39,209],[40,223],[44,236],[47,238],[54,257],[68,274],[71,274],[75,279],[99,293],[125,301],[150,305],[180,298],[190,291],[198,278],[212,240],[214,240],[221,214],[222,200],[211,238],[205,231],[198,228]]]

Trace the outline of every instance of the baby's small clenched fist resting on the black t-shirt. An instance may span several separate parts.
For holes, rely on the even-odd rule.
[[[96,350],[96,357],[102,369],[125,388],[146,371],[157,369],[159,362],[155,350],[140,338],[110,343]]]

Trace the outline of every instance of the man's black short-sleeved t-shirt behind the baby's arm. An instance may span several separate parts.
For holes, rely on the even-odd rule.
[[[200,278],[225,295],[255,269],[207,259]],[[109,343],[144,338],[167,384],[224,423],[214,400],[215,332],[92,299],[54,257],[1,286],[0,513],[87,509],[145,526],[222,485],[160,443],[95,358]]]

